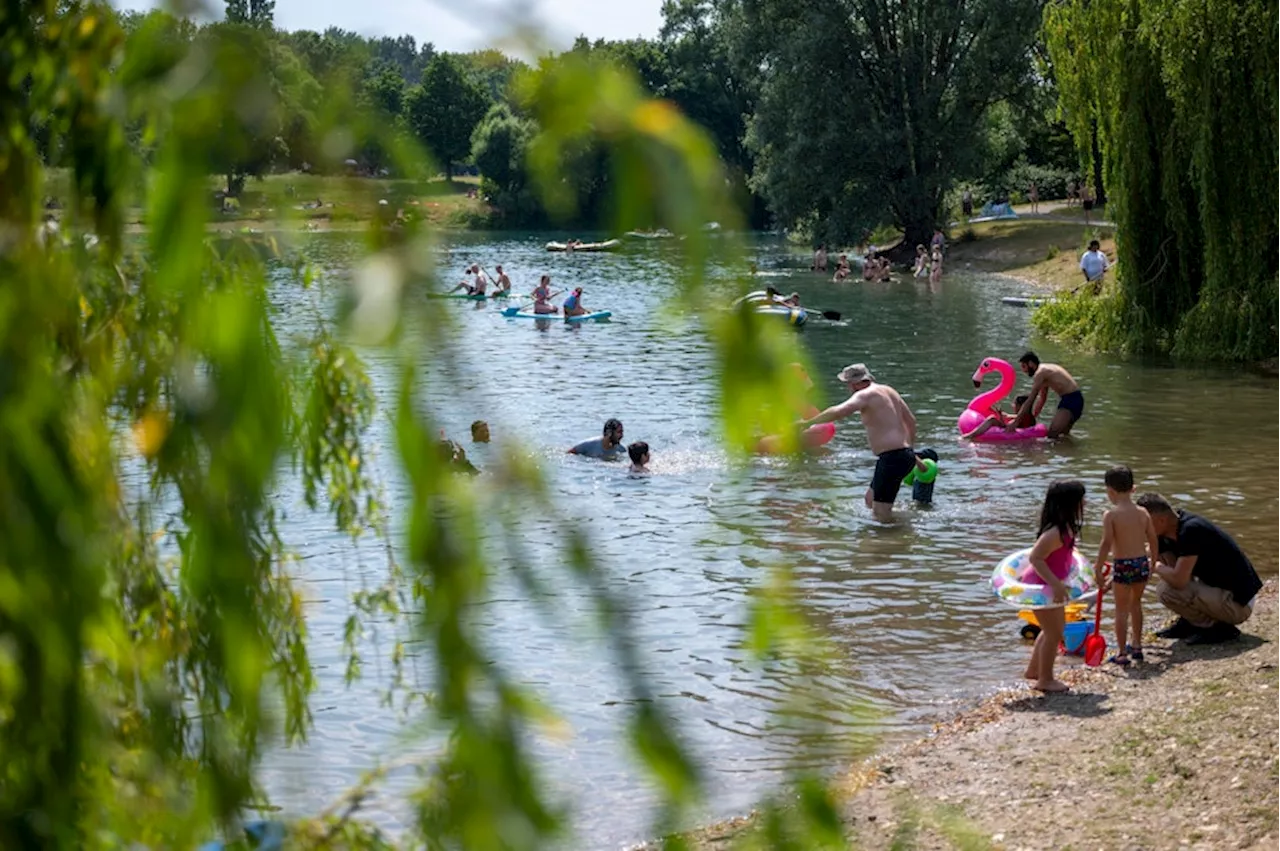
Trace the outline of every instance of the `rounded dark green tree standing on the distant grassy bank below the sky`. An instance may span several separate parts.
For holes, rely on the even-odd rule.
[[[463,73],[453,56],[440,54],[408,92],[404,110],[410,128],[453,179],[453,164],[471,154],[471,133],[484,118],[489,99]]]

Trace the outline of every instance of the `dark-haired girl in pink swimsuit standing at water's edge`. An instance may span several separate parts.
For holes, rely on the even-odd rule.
[[[1041,633],[1036,637],[1024,674],[1034,681],[1033,688],[1043,692],[1070,691],[1065,682],[1053,677],[1053,663],[1057,662],[1057,645],[1066,631],[1064,605],[1069,594],[1062,580],[1071,575],[1075,536],[1080,534],[1083,522],[1084,485],[1078,481],[1055,481],[1050,485],[1041,508],[1039,537],[1028,557],[1032,569],[1023,575],[1024,582],[1047,585],[1053,594],[1052,605],[1036,609]]]

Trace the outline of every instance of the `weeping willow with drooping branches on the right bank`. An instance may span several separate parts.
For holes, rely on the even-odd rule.
[[[1116,315],[1088,334],[1094,344],[1280,351],[1280,205],[1266,189],[1280,174],[1280,29],[1254,26],[1274,13],[1261,0],[1046,9],[1062,114],[1106,177],[1121,234]]]

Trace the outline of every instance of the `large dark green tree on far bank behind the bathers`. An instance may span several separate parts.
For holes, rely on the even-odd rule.
[[[927,243],[992,104],[1030,81],[1038,0],[736,0],[762,91],[754,183],[785,225],[854,241],[886,219]]]

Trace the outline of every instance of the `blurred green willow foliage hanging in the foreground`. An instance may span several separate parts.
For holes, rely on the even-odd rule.
[[[594,603],[621,703],[632,708],[628,740],[659,793],[655,831],[680,824],[700,773],[640,676],[625,601],[611,595],[581,531],[558,516],[526,456],[494,458],[502,488],[490,505],[436,450],[421,352],[443,320],[438,305],[415,297],[435,283],[421,262],[428,234],[415,221],[370,227],[349,285],[317,282],[271,239],[206,234],[207,175],[234,159],[223,147],[230,141],[230,155],[247,156],[255,133],[284,125],[297,88],[276,84],[288,73],[262,41],[270,33],[219,24],[183,50],[163,41],[172,31],[137,19],[138,38],[125,42],[101,4],[50,0],[32,12],[0,17],[0,847],[188,848],[239,834],[247,813],[269,806],[259,761],[306,736],[314,688],[298,567],[276,507],[291,476],[339,531],[376,536],[385,553],[381,580],[351,601],[349,676],[361,674],[370,617],[411,631],[433,662],[430,695],[408,694],[403,644],[392,650],[387,699],[440,732],[438,752],[421,760],[406,845],[534,848],[563,838],[564,816],[529,752],[549,712],[493,663],[472,619],[489,599],[493,552],[509,553],[502,568],[531,599],[556,582]],[[152,44],[165,46],[145,55]],[[712,142],[616,65],[556,63],[525,84],[543,202],[573,202],[559,179],[573,156],[608,163],[618,223],[662,220],[690,234],[677,247],[690,270],[684,296],[701,308],[713,250],[733,243],[704,238],[699,225],[737,224]],[[348,97],[333,92],[311,127],[339,161],[375,134],[364,116],[344,114]],[[129,143],[134,123],[151,141],[147,163]],[[41,220],[36,129],[64,151],[70,174],[56,232]],[[419,168],[421,154],[380,141],[397,168]],[[150,229],[128,241],[133,186]],[[292,275],[269,280],[268,262]],[[316,289],[329,285],[342,292],[321,298]],[[296,312],[296,337],[276,334],[280,310]],[[723,371],[722,407],[741,452],[754,441],[751,422],[782,431],[794,418],[795,335],[748,311],[704,320],[721,362],[733,366]],[[375,398],[358,347],[383,348],[399,390],[388,413],[408,490],[394,507],[403,564],[385,537],[365,444]],[[530,513],[566,530],[563,569],[552,576],[539,576],[513,541],[481,545],[481,518],[492,537],[502,518]],[[751,639],[762,655],[806,635],[787,616],[788,587],[778,581],[758,595]],[[774,627],[785,635],[772,636]],[[291,838],[389,847],[353,819],[384,770]],[[805,781],[801,804],[795,836],[829,845],[826,792]]]

